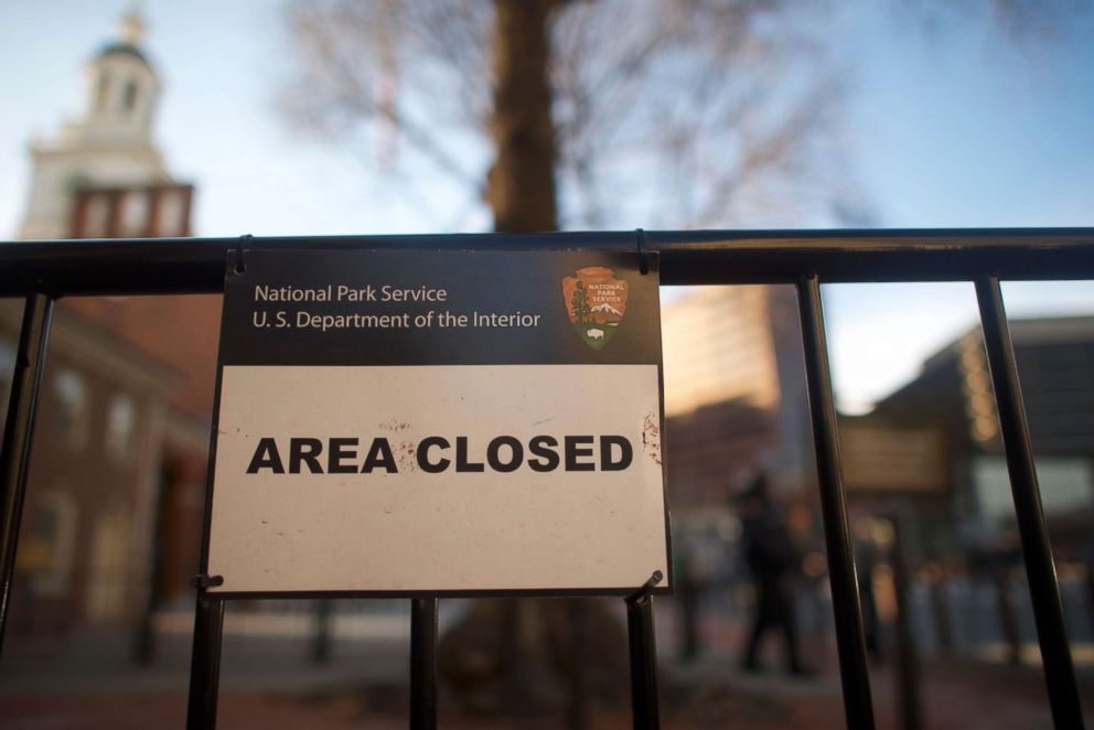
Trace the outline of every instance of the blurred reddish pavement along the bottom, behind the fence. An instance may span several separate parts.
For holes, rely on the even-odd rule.
[[[666,602],[667,603],[667,602]],[[221,728],[406,728],[408,623],[401,615],[356,618],[341,624],[328,662],[311,657],[307,631],[226,621],[222,655]],[[178,621],[161,621],[155,661],[136,665],[121,633],[79,633],[51,640],[7,637],[0,661],[0,728],[182,727],[186,715],[190,636]],[[299,626],[298,626],[299,627]],[[752,730],[844,727],[835,647],[815,636],[805,654],[817,668],[809,678],[777,672],[777,646],[769,669],[737,668],[740,627],[704,624],[707,650],[694,662],[677,658],[675,615],[658,610],[663,727],[674,730],[736,727]],[[1027,730],[1051,727],[1040,670],[984,662],[927,658],[922,665],[923,728]],[[893,666],[871,669],[879,729],[900,728]],[[1080,673],[1080,695],[1094,700],[1094,674]],[[443,694],[443,728],[557,728],[560,718],[490,721],[455,711]],[[1094,707],[1086,706],[1094,723]],[[599,708],[591,730],[631,727],[625,707]]]

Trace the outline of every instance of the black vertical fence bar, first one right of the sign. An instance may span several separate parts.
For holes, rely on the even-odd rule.
[[[828,345],[820,307],[820,282],[813,276],[797,283],[797,302],[802,315],[805,346],[805,375],[809,389],[813,443],[820,484],[820,509],[824,515],[825,547],[828,552],[828,580],[836,619],[839,647],[839,677],[844,688],[847,727],[873,728],[873,699],[866,665],[862,610],[859,605],[858,577],[847,522],[847,495],[839,465],[839,438],[836,406],[828,371]]]

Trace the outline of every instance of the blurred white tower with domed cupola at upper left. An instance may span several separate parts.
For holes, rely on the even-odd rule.
[[[151,137],[160,82],[141,50],[143,34],[136,10],[122,15],[117,40],[85,67],[78,118],[56,138],[30,143],[33,170],[22,238],[67,236],[79,190],[170,183]]]

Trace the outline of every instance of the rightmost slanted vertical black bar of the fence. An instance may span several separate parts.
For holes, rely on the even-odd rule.
[[[1044,680],[1049,686],[1049,704],[1057,728],[1082,728],[1083,713],[1075,684],[1075,668],[1063,623],[1060,586],[1052,561],[1052,548],[1044,526],[1041,492],[1033,469],[1033,449],[1026,422],[1026,407],[1018,384],[1015,347],[1007,328],[999,278],[976,280],[976,301],[980,309],[980,325],[988,353],[991,383],[999,410],[1002,444],[1010,472],[1010,491],[1015,498],[1018,533],[1026,557],[1033,620],[1041,644]]]

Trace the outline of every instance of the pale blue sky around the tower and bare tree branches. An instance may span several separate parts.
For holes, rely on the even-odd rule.
[[[881,4],[840,10],[854,92],[847,164],[877,224],[1094,225],[1094,28],[1016,45],[976,22],[925,32]],[[395,194],[354,153],[294,136],[277,110],[291,63],[281,3],[142,6],[165,89],[157,137],[172,172],[199,187],[199,235],[489,227],[485,211],[440,176]],[[0,0],[0,236],[14,235],[25,205],[26,141],[77,111],[82,66],[127,7]],[[1094,313],[1090,282],[1005,291],[1012,315]],[[825,296],[837,394],[851,408],[975,322],[968,285],[833,286]]]

